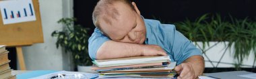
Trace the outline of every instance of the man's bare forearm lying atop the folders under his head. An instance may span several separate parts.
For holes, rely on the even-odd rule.
[[[125,58],[132,56],[166,56],[159,46],[129,44],[123,42],[104,42],[97,51],[97,59]]]

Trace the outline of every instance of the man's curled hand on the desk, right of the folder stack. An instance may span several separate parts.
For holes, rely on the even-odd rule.
[[[197,77],[192,65],[187,62],[176,66],[174,70],[179,74],[178,79],[194,79]]]

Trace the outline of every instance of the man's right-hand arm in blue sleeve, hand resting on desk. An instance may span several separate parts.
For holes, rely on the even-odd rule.
[[[174,60],[179,64],[174,68],[179,74],[178,79],[193,79],[201,75],[205,68],[201,50],[179,31],[175,30],[173,40]]]

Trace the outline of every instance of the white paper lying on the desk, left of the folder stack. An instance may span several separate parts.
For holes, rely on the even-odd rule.
[[[38,76],[35,78],[30,78],[30,79],[51,79],[51,78],[53,78],[53,76],[58,76],[55,79],[90,79],[90,78],[97,78],[98,74],[92,74],[92,73],[87,73],[87,72],[60,71],[60,72],[45,74],[45,75]]]

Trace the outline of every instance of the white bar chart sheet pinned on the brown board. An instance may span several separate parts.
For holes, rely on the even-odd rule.
[[[0,1],[3,24],[36,21],[32,0]]]

